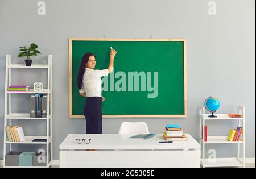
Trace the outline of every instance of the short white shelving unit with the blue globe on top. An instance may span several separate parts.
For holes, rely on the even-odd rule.
[[[242,118],[230,118],[228,114],[214,114],[217,118],[209,118],[209,114],[205,114],[205,107],[200,107],[200,144],[203,149],[203,156],[201,158],[201,166],[204,167],[245,167],[245,107],[239,106],[238,114]],[[243,127],[243,134],[240,141],[228,141],[228,133],[226,136],[207,136],[207,142],[204,141],[204,127],[207,121],[214,120],[221,122],[222,120],[237,120],[237,125]],[[208,126],[208,125],[207,125]],[[203,131],[202,131],[203,130]],[[209,126],[208,126],[209,130]],[[209,132],[208,132],[209,133]],[[203,138],[202,138],[203,136]],[[205,159],[205,145],[207,144],[236,144],[237,157],[236,158],[217,158]],[[242,145],[242,156],[240,156],[240,148]]]

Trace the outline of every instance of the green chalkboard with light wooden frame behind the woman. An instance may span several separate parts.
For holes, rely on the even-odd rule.
[[[185,39],[69,39],[69,117],[84,118],[86,98],[77,89],[77,73],[86,52],[96,55],[96,69],[114,72],[102,78],[105,118],[186,117]]]

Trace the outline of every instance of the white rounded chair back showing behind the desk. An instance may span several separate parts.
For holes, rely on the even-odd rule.
[[[145,122],[123,122],[119,128],[119,134],[149,134]]]

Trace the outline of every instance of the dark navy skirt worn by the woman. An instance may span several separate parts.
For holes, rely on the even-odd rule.
[[[102,134],[101,97],[89,97],[84,106],[86,134]]]

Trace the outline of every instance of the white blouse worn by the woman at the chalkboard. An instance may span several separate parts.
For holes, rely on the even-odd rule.
[[[86,93],[86,97],[102,97],[101,95],[101,77],[108,76],[109,70],[94,70],[85,68],[82,78],[82,88],[79,93]]]

